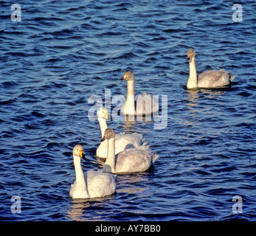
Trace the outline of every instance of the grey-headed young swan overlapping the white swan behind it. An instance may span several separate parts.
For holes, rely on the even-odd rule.
[[[123,150],[114,154],[115,133],[113,129],[105,130],[103,141],[108,139],[108,156],[103,166],[103,172],[108,173],[136,173],[148,170],[159,155],[154,155],[149,146],[144,143],[138,148]]]

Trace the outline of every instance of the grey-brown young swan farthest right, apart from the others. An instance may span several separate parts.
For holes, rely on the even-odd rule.
[[[235,79],[235,75],[225,72],[224,69],[219,71],[207,71],[198,75],[196,74],[196,52],[193,49],[187,51],[187,60],[190,63],[190,77],[187,80],[187,89],[207,88],[212,89],[229,85]]]

